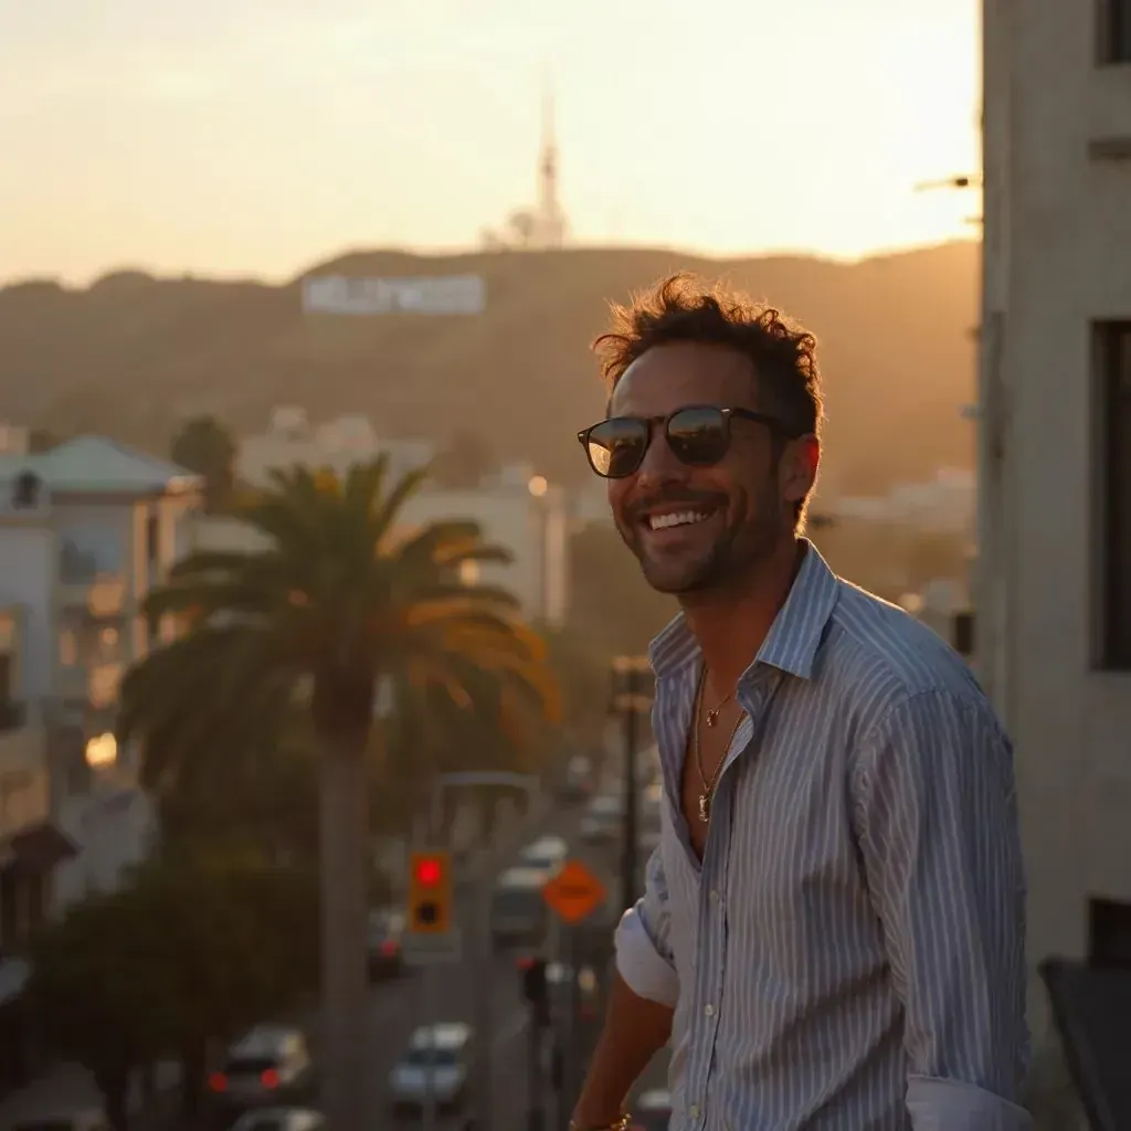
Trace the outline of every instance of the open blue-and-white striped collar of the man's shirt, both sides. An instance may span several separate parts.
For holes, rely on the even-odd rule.
[[[824,628],[832,615],[840,588],[839,581],[824,559],[808,538],[801,569],[794,578],[785,604],[778,611],[762,641],[753,664],[743,673],[740,683],[749,680],[762,664],[777,667],[791,675],[812,677],[817,651],[824,636]],[[680,613],[653,640],[648,658],[657,679],[682,671],[699,659],[699,645]]]

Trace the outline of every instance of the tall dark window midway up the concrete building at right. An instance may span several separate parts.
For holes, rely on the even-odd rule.
[[[1129,0],[1131,2],[1131,0]],[[1131,322],[1096,327],[1100,665],[1131,671]]]

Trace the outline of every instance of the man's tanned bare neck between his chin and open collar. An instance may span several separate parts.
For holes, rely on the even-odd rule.
[[[784,538],[741,589],[703,594],[684,604],[688,628],[703,654],[708,698],[717,700],[733,692],[742,673],[754,662],[789,596],[802,553],[796,538]]]

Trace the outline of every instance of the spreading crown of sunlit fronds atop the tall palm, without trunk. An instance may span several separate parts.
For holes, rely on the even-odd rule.
[[[277,470],[236,510],[262,549],[198,552],[174,568],[146,612],[187,619],[191,631],[122,685],[119,732],[143,743],[148,785],[207,795],[252,772],[271,757],[279,720],[300,709],[304,680],[301,709],[323,727],[345,711],[368,728],[378,673],[398,681],[398,714],[422,711],[449,737],[482,734],[483,748],[491,733],[506,739],[509,714],[560,717],[545,646],[513,594],[458,584],[464,561],[506,563],[509,552],[460,519],[394,538],[423,478],[421,469],[389,485],[387,459],[345,477]]]

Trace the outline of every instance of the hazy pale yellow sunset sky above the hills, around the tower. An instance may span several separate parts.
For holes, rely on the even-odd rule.
[[[0,0],[0,278],[473,245],[834,256],[969,234],[977,0]]]

